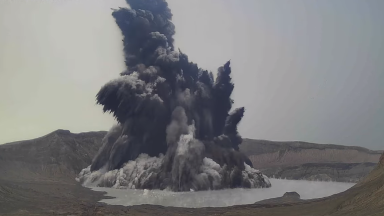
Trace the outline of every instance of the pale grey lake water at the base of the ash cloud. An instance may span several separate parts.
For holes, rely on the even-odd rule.
[[[282,196],[286,191],[296,191],[302,199],[320,198],[342,192],[354,183],[269,179],[272,187],[258,189],[223,189],[195,192],[171,192],[164,190],[113,189],[92,187],[106,191],[116,198],[101,202],[118,205],[158,204],[177,207],[220,207],[236,204],[250,204],[263,199]]]

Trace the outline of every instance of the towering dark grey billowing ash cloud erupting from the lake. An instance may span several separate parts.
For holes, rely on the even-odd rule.
[[[97,103],[118,124],[77,180],[85,185],[173,191],[269,187],[238,151],[244,107],[231,110],[230,62],[216,79],[174,50],[164,0],[126,0],[113,10],[126,70],[101,87]]]

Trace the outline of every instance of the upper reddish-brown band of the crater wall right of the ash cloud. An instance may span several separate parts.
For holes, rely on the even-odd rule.
[[[258,169],[304,163],[377,163],[382,153],[357,146],[259,139],[244,139],[240,150]]]

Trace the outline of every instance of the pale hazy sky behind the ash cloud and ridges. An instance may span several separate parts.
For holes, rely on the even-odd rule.
[[[384,149],[383,0],[168,0],[175,44],[231,59],[243,137]],[[124,0],[0,0],[0,143],[108,130],[95,94],[124,69]]]

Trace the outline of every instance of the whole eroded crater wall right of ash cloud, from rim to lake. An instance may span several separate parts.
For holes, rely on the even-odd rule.
[[[244,139],[240,150],[269,177],[340,182],[366,176],[382,153],[358,146],[259,139]]]

